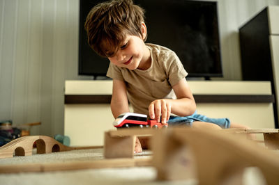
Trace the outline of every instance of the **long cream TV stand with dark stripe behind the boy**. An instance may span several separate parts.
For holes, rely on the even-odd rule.
[[[252,129],[274,128],[269,81],[188,81],[197,112],[230,118]],[[104,131],[116,129],[110,110],[112,81],[66,81],[64,134],[71,145],[103,145]],[[132,111],[132,108],[130,108]]]

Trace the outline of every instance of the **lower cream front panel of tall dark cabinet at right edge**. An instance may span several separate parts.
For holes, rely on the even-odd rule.
[[[271,43],[271,60],[273,69],[273,80],[277,99],[277,110],[279,115],[279,35],[270,36]]]

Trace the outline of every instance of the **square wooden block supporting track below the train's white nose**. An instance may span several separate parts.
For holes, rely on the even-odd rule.
[[[132,158],[136,136],[111,136],[110,133],[110,131],[105,132],[105,158]]]

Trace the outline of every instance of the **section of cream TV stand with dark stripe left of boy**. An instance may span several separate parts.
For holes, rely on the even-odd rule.
[[[66,81],[64,134],[70,145],[103,145],[104,131],[114,129],[110,104],[98,103],[98,95],[112,95],[112,81]]]

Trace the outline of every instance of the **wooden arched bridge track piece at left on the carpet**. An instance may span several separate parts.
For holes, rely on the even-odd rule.
[[[32,155],[33,143],[36,143],[37,154],[96,148],[68,147],[49,136],[24,136],[0,147],[0,159],[13,157],[14,154],[15,156],[30,156]]]

